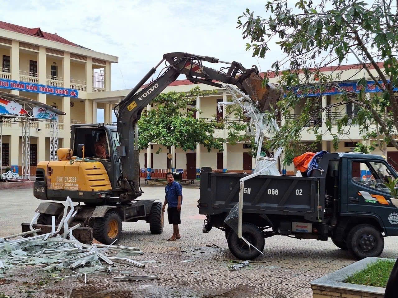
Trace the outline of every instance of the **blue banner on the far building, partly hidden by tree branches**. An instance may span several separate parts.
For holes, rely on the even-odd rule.
[[[383,85],[382,82],[379,82],[380,85]],[[344,89],[347,91],[351,92],[359,92],[361,89],[363,89],[362,85],[359,85],[357,88],[357,83],[340,83],[339,84],[340,89]],[[317,96],[321,95],[320,87],[318,87],[316,84],[314,84],[313,87],[294,87],[293,88],[297,95],[303,95],[305,93],[306,96]],[[394,91],[398,90],[398,88],[395,88]],[[381,92],[380,88],[376,85],[375,81],[368,81],[367,86],[365,88],[365,92],[367,93],[376,93],[376,92]],[[338,88],[336,87],[330,87],[325,89],[322,92],[322,95],[336,95],[336,94],[341,94],[342,91],[339,91]]]

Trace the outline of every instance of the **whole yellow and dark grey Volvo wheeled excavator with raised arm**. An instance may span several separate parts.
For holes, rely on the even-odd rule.
[[[144,83],[166,63],[157,79]],[[215,70],[203,66],[203,62],[227,64]],[[74,124],[71,127],[70,148],[57,151],[58,161],[41,161],[37,164],[33,194],[37,199],[65,201],[70,197],[78,202],[77,212],[69,219],[69,226],[80,223],[73,230],[75,238],[91,243],[93,237],[104,244],[111,244],[121,235],[122,222],[149,223],[152,234],[163,231],[162,203],[157,200],[138,199],[140,188],[139,150],[137,145],[137,121],[142,110],[180,74],[193,83],[222,87],[221,83],[236,85],[246,93],[260,110],[268,110],[281,95],[272,84],[262,85],[263,78],[256,66],[246,69],[238,62],[222,62],[209,56],[183,52],[163,55],[130,93],[115,106],[117,125]],[[96,155],[95,144],[101,143],[105,154]],[[159,198],[162,199],[162,198]],[[43,202],[37,207],[40,213],[35,228],[51,232],[52,217],[56,224],[62,220],[64,205],[59,202]],[[29,230],[29,223],[22,224]]]

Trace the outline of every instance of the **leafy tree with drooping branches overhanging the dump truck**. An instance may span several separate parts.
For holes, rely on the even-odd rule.
[[[284,146],[286,161],[290,163],[303,130],[313,131],[317,141],[324,134],[331,134],[337,149],[341,137],[349,133],[352,125],[357,125],[363,138],[371,140],[370,146],[360,146],[357,151],[376,146],[385,150],[387,143],[398,149],[398,95],[394,92],[398,85],[398,1],[316,2],[268,1],[266,17],[255,16],[249,9],[238,17],[238,28],[249,41],[246,50],[252,50],[253,56],[267,57],[275,43],[283,52],[271,71],[279,77],[285,92],[276,108],[286,123],[279,133],[265,141],[265,146]],[[359,66],[355,74],[356,78],[360,77],[355,79],[357,90],[341,88],[339,83],[352,80],[342,76],[341,71],[332,71],[330,75],[320,71],[326,66],[352,61]],[[380,92],[369,96],[365,92],[367,81],[372,81],[369,87],[376,86]],[[322,107],[322,95],[308,97],[314,95],[314,90],[322,93],[330,88],[342,92],[335,103]],[[292,108],[303,98],[302,111],[292,116]],[[352,113],[345,112],[347,104]],[[274,112],[269,113],[270,117],[273,115]],[[320,127],[322,118],[326,127]]]

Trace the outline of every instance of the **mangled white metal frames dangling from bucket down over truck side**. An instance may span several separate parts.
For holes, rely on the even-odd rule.
[[[230,86],[230,85],[222,85],[225,89],[227,89],[230,94],[232,95],[232,102],[220,102],[218,103],[219,109],[220,106],[222,105],[232,105],[236,104],[242,110],[246,112],[245,116],[250,118],[250,126],[255,126],[256,128],[256,137],[255,137],[255,142],[256,144],[262,144],[263,143],[263,138],[264,138],[264,132],[269,131],[271,133],[279,131],[279,126],[276,123],[275,120],[269,121],[267,117],[265,117],[265,113],[261,112],[258,110],[256,107],[256,104],[250,97],[248,97],[246,94],[244,94],[241,90]],[[241,97],[237,97],[237,95],[240,95]],[[256,164],[254,168],[254,173],[250,174],[244,178],[241,178],[240,181],[240,188],[239,188],[239,202],[238,202],[238,237],[242,240],[244,240],[249,247],[252,246],[255,248],[258,252],[260,252],[256,247],[254,247],[252,244],[250,244],[246,239],[242,237],[242,217],[243,217],[243,192],[244,192],[244,182],[254,178],[258,175],[265,174],[265,172],[271,168],[271,166],[274,166],[279,158],[279,155],[282,152],[282,148],[279,147],[273,158],[269,157],[261,157],[261,146],[258,146],[257,148],[257,155],[256,155]],[[268,162],[271,163],[268,163]],[[262,252],[260,252],[262,253]]]

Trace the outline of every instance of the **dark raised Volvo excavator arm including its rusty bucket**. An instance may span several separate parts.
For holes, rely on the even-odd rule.
[[[156,72],[156,68],[163,61],[168,64],[164,72],[154,81],[144,86],[144,83]],[[203,66],[202,62],[226,63],[229,66],[221,68],[221,70],[215,70]],[[262,78],[259,77],[256,67],[246,69],[238,62],[222,62],[214,57],[183,52],[164,54],[162,61],[152,68],[131,92],[115,106],[120,142],[118,154],[121,158],[121,178],[118,181],[121,188],[127,191],[127,195],[131,199],[141,195],[139,188],[139,155],[137,145],[135,145],[135,126],[147,104],[170,83],[175,81],[180,74],[185,74],[187,79],[193,83],[203,83],[215,87],[221,87],[221,83],[236,85],[254,101],[258,101],[258,106],[261,109],[269,108],[280,96],[280,93],[278,95],[274,94],[275,92],[270,92],[271,89],[273,90],[271,84],[263,88],[261,84]],[[142,89],[139,91],[140,88]]]

